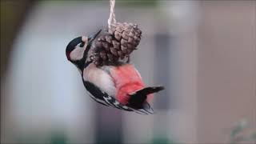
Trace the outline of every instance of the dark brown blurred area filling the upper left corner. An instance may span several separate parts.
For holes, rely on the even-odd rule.
[[[6,70],[15,34],[30,4],[30,0],[1,1],[1,77]]]

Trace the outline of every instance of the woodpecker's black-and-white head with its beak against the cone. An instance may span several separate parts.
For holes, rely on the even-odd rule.
[[[100,34],[101,30],[98,33],[93,34],[89,37],[82,36],[78,38],[74,38],[67,46],[66,46],[66,58],[72,62],[75,66],[82,69],[84,62],[86,61],[88,51],[90,50],[91,44],[94,41],[94,38]]]

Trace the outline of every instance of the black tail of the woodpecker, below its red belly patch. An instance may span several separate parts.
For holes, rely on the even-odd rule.
[[[148,94],[156,93],[160,90],[164,90],[163,86],[145,87],[141,90],[130,93],[129,106],[135,109],[142,109],[146,102]]]

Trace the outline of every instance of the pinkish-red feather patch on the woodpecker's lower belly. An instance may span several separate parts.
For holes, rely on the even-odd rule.
[[[110,74],[116,87],[115,98],[123,105],[127,104],[130,93],[144,88],[142,78],[130,64],[114,67]]]

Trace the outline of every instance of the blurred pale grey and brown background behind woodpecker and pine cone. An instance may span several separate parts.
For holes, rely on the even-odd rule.
[[[1,143],[256,142],[256,2],[116,0],[154,115],[94,102],[66,45],[106,28],[110,3],[1,1]]]

